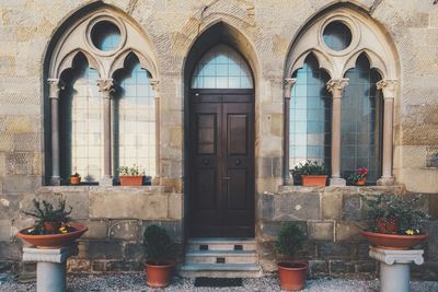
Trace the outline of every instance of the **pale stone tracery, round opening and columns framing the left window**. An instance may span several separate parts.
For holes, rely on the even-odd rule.
[[[83,14],[82,14],[83,15]],[[139,96],[146,96],[147,101],[152,101],[151,108],[153,114],[149,115],[154,120],[148,126],[150,129],[153,124],[153,130],[150,133],[154,135],[154,142],[151,144],[153,155],[150,155],[149,162],[153,160],[154,165],[151,170],[153,173],[149,173],[151,176],[160,175],[159,160],[160,151],[158,145],[159,141],[159,79],[155,68],[154,49],[148,37],[138,28],[138,25],[134,23],[131,19],[126,16],[123,12],[104,5],[97,11],[87,13],[77,20],[72,25],[67,27],[61,36],[53,40],[53,47],[49,49],[48,57],[48,93],[50,100],[50,117],[51,117],[51,175],[50,184],[59,185],[61,183],[61,174],[68,172],[74,172],[70,170],[60,170],[60,165],[71,165],[71,163],[60,163],[60,132],[59,132],[59,96],[61,91],[65,89],[61,81],[61,74],[66,70],[76,70],[74,61],[78,54],[83,56],[88,63],[88,70],[94,69],[94,84],[92,91],[100,92],[102,97],[102,152],[103,152],[103,165],[99,166],[101,173],[97,175],[90,175],[91,183],[99,182],[100,185],[113,185],[113,167],[114,157],[112,156],[113,145],[113,129],[112,124],[113,114],[112,105],[113,97],[115,94],[115,85],[117,82],[129,82],[126,80],[115,80],[113,75],[120,70],[125,70],[127,66],[126,60],[136,59],[136,69],[132,69],[131,73],[139,72],[141,75],[141,86],[135,84],[137,87],[141,87],[145,91]],[[132,58],[135,56],[135,58]],[[132,63],[131,61],[128,61]],[[93,70],[93,72],[94,72]],[[139,71],[141,70],[141,71]],[[145,84],[148,82],[148,84]],[[71,86],[71,84],[70,84]],[[73,96],[74,97],[74,96]],[[85,96],[87,97],[87,96]],[[88,98],[88,97],[87,97]],[[148,100],[149,98],[149,100]],[[129,98],[128,98],[129,100]],[[149,112],[150,109],[149,108]],[[102,109],[99,109],[102,113]],[[99,112],[96,109],[95,113]],[[92,114],[95,115],[95,114]],[[157,121],[157,122],[155,122]],[[150,138],[150,137],[149,137]],[[140,140],[143,138],[139,138]],[[62,145],[65,147],[65,145]],[[91,145],[88,145],[90,149]],[[89,153],[91,153],[89,151]],[[91,154],[90,154],[91,155]],[[117,161],[115,164],[117,165]],[[130,165],[128,165],[130,166]],[[93,178],[93,179],[91,179]]]

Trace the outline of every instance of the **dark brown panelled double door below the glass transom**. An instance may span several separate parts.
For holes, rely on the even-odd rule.
[[[192,236],[254,236],[252,90],[191,94]]]

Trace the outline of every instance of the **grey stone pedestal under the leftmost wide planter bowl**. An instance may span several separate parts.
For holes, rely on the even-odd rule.
[[[65,292],[67,258],[76,255],[77,245],[53,249],[24,247],[23,261],[36,261],[36,291]]]

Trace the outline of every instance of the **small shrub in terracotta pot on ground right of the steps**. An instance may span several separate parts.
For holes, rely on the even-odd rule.
[[[278,262],[278,276],[284,290],[297,291],[304,288],[309,264],[293,260],[293,255],[302,248],[304,240],[304,232],[295,223],[286,223],[278,233],[275,249],[285,258]]]

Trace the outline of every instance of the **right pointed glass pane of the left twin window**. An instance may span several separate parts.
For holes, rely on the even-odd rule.
[[[115,74],[113,107],[114,173],[119,166],[137,165],[155,175],[155,113],[151,74],[130,54],[125,68]]]

